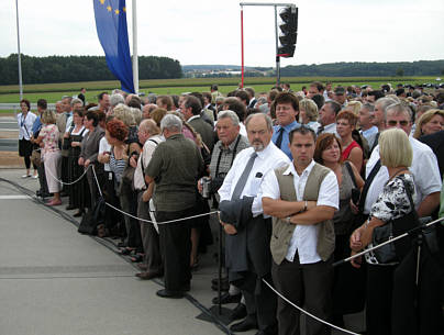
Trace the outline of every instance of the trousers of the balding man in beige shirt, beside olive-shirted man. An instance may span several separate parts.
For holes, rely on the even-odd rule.
[[[149,216],[149,204],[148,202],[143,202],[142,194],[144,191],[138,191],[137,193],[137,217],[151,220]],[[147,266],[148,272],[163,272],[164,266],[162,264],[160,244],[159,235],[154,227],[154,224],[138,221],[141,225],[141,235],[143,249],[145,253],[143,263]]]

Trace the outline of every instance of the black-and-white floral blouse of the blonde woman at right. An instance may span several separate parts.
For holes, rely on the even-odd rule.
[[[410,174],[398,175],[386,183],[382,192],[371,206],[369,217],[375,216],[380,221],[384,221],[384,223],[388,223],[391,220],[402,217],[411,212],[412,208],[402,179],[406,181],[414,203],[415,194],[413,176]],[[371,247],[373,244],[370,243],[367,248]],[[378,264],[373,252],[365,254],[365,259],[369,264]]]

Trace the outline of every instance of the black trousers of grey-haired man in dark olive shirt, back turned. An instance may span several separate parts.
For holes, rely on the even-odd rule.
[[[164,256],[165,288],[169,291],[182,291],[191,280],[191,221],[162,222],[193,215],[193,208],[176,212],[156,212],[159,222],[160,252]]]

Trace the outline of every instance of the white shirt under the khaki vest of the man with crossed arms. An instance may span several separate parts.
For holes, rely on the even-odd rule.
[[[295,165],[290,164],[284,171],[284,175],[292,175],[296,199],[298,201],[303,200],[303,193],[306,190],[307,180],[314,166],[314,160],[311,160],[310,165],[299,176],[295,169]],[[265,180],[262,186],[263,197],[271,199],[280,199],[279,182],[274,171],[269,171],[265,176]],[[340,188],[337,185],[336,175],[330,171],[321,183],[319,189],[319,198],[317,205],[328,205],[334,209],[340,208]],[[321,260],[317,252],[318,246],[318,232],[319,224],[314,225],[296,225],[293,234],[288,246],[286,259],[293,261],[296,250],[299,254],[300,264],[313,264]]]

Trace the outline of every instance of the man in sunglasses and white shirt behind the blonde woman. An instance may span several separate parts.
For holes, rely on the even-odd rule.
[[[402,129],[407,135],[409,135],[411,126],[412,122],[409,107],[402,103],[395,103],[387,108],[386,129],[399,127]],[[414,177],[417,211],[420,217],[428,216],[431,215],[440,204],[440,192],[442,186],[440,169],[437,167],[436,156],[428,145],[419,142],[412,136],[409,136],[409,139],[413,149],[413,161],[409,170]],[[379,145],[375,147],[370,158],[368,159],[366,166],[367,179],[375,166],[377,168],[378,165],[380,165],[378,161],[380,161]],[[385,166],[381,166],[369,186],[366,181],[364,190],[367,187],[368,192],[364,198],[364,214],[368,214],[370,212],[371,205],[376,202],[388,179],[388,170]]]

